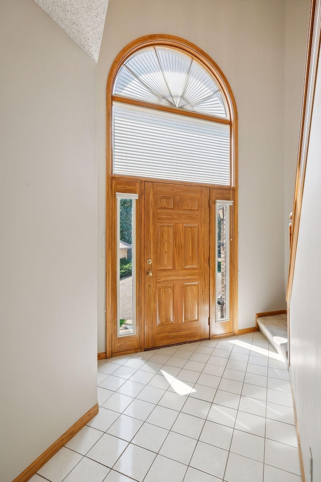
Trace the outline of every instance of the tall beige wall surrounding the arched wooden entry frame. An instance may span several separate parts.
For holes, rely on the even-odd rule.
[[[147,34],[183,37],[225,73],[239,115],[239,328],[254,326],[256,312],[285,307],[284,26],[279,0],[110,0],[98,61],[98,351],[105,351],[106,82],[118,52]],[[296,69],[301,75],[302,61]]]

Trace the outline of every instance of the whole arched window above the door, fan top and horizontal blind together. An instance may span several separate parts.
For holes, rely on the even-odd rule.
[[[142,48],[121,65],[112,94],[113,174],[232,184],[228,102],[196,58]]]

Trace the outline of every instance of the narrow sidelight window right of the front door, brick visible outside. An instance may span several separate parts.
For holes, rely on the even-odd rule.
[[[216,201],[216,321],[230,319],[230,206],[232,204],[232,201]]]

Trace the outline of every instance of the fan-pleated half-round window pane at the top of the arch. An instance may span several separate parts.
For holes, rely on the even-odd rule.
[[[207,70],[191,56],[167,47],[150,47],[129,57],[119,70],[113,93],[214,117],[229,116]]]

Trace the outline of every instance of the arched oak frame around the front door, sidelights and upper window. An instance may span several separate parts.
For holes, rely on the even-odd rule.
[[[173,35],[155,34],[140,37],[128,45],[126,45],[115,58],[107,80],[106,88],[106,357],[110,357],[112,354],[120,354],[125,352],[134,352],[143,350],[143,329],[140,323],[137,322],[135,346],[133,345],[133,336],[124,337],[122,343],[117,343],[116,336],[116,323],[117,323],[117,309],[116,309],[116,293],[114,288],[114,274],[116,273],[116,255],[115,249],[112,243],[112,237],[115,229],[115,200],[113,193],[115,191],[114,183],[117,183],[117,190],[121,192],[136,192],[139,194],[141,201],[142,192],[139,178],[129,177],[127,182],[122,182],[123,177],[119,175],[112,175],[112,102],[113,100],[121,101],[118,96],[113,96],[113,86],[117,77],[117,74],[124,64],[124,62],[134,53],[146,47],[169,47],[179,50],[193,57],[200,65],[202,65],[216,80],[218,86],[222,89],[226,100],[226,107],[229,112],[230,119],[217,118],[217,122],[230,125],[230,166],[231,166],[231,186],[214,186],[211,187],[211,192],[215,190],[216,196],[219,199],[231,199],[233,200],[233,218],[232,218],[232,235],[233,235],[233,256],[231,256],[231,276],[230,276],[230,293],[233,303],[230,305],[231,313],[233,313],[234,333],[239,334],[248,330],[238,330],[237,322],[237,290],[238,290],[238,118],[237,108],[234,99],[232,89],[216,62],[202,49],[194,45],[193,43],[176,37]],[[124,99],[123,102],[132,103],[135,105],[141,105],[150,107],[153,109],[165,110],[168,112],[179,113],[202,119],[211,119],[213,116],[203,115],[192,111],[183,111],[181,109],[175,109],[174,107],[159,106],[157,104],[143,102],[139,100]],[[178,181],[166,181],[175,182]],[[182,184],[190,184],[180,182]],[[229,194],[226,194],[226,191]],[[214,192],[214,191],[213,191]],[[219,197],[218,197],[219,196]],[[212,197],[212,194],[211,194]],[[214,209],[213,209],[214,212]],[[140,207],[137,209],[137,216],[141,214]],[[109,234],[108,234],[109,233]],[[112,234],[111,234],[112,233]],[[138,236],[140,234],[138,233]],[[138,243],[137,243],[138,247]],[[137,266],[140,263],[140,257],[136,258]],[[214,265],[214,263],[213,263]],[[214,269],[214,268],[213,268]],[[139,280],[139,273],[137,273],[137,279]],[[142,279],[139,280],[142,282]],[[141,283],[140,283],[141,284]],[[140,298],[142,293],[140,294]],[[137,297],[138,298],[138,297]],[[141,300],[138,301],[141,303]],[[211,322],[212,323],[212,322]],[[230,336],[233,333],[227,335],[211,336]],[[126,342],[126,338],[130,338],[129,342]]]

